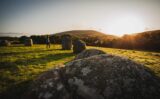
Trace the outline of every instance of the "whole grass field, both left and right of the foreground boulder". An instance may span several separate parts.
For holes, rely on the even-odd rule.
[[[153,70],[160,76],[160,53],[87,47],[128,57]],[[23,45],[0,48],[0,99],[19,99],[32,80],[40,73],[74,58],[72,51],[61,50],[60,45],[24,47]]]

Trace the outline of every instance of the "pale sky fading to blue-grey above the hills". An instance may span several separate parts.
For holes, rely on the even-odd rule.
[[[122,36],[160,29],[160,0],[0,0],[0,33],[97,30]]]

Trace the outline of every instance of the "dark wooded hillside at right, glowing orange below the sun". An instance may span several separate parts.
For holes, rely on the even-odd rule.
[[[160,30],[124,35],[114,43],[114,47],[159,51]]]

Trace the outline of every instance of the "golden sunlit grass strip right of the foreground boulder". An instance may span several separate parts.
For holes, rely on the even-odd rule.
[[[88,48],[96,48],[103,50],[106,53],[128,57],[131,60],[134,60],[140,64],[143,64],[144,66],[149,67],[156,73],[156,75],[160,76],[160,56],[154,55],[154,54],[160,54],[158,52],[102,48],[102,47],[88,47]]]

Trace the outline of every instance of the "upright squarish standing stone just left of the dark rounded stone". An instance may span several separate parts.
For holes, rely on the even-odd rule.
[[[72,49],[72,38],[70,35],[62,36],[62,49],[71,50]]]

